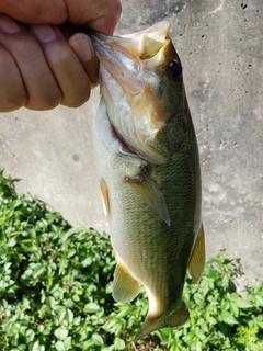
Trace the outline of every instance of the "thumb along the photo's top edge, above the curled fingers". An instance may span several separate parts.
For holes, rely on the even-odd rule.
[[[89,24],[112,35],[122,12],[119,0],[1,0],[0,12],[27,24]]]

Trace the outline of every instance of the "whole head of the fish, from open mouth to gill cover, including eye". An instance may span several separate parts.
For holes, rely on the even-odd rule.
[[[163,21],[125,36],[91,34],[101,94],[116,135],[126,150],[157,165],[174,155],[185,129],[182,65],[169,29]]]

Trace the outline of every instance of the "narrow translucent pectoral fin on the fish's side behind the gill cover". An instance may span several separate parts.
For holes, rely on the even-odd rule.
[[[161,219],[170,226],[171,222],[165,200],[159,190],[158,184],[150,178],[148,172],[142,169],[141,172],[134,178],[126,177],[126,181],[133,184],[136,190],[142,194],[145,200],[157,212]]]

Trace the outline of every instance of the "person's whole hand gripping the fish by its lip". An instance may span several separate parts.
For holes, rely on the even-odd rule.
[[[111,35],[119,15],[119,0],[1,0],[0,112],[83,104],[99,61],[77,26]]]

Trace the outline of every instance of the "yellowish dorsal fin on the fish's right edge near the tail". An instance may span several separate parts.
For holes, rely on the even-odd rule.
[[[188,272],[195,282],[198,282],[205,265],[205,231],[202,225],[199,236],[195,242],[190,263]]]

